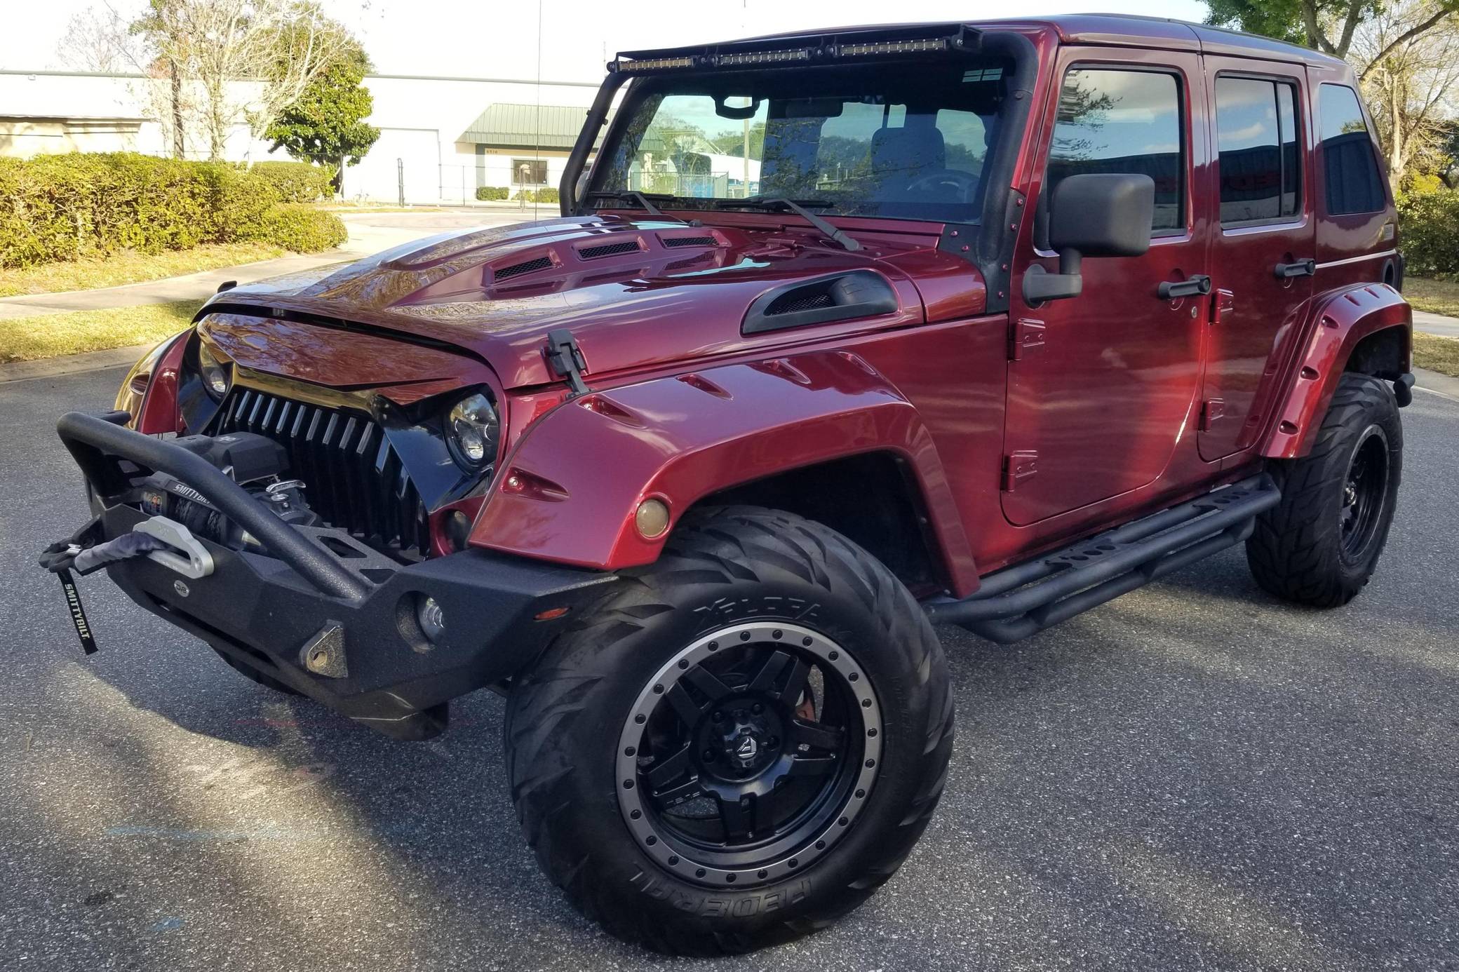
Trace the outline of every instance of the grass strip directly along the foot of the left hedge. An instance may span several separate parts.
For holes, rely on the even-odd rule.
[[[108,257],[15,267],[0,270],[0,296],[115,288],[123,283],[142,283],[184,273],[236,267],[283,254],[282,247],[271,244],[216,244],[193,250],[168,250],[159,254],[127,251]]]

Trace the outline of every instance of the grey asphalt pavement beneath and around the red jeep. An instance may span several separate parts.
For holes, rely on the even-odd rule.
[[[1348,609],[1240,552],[1013,648],[940,633],[957,746],[907,865],[741,960],[603,936],[538,874],[481,692],[395,743],[261,689],[39,549],[85,515],[54,436],[121,371],[0,384],[0,968],[1459,968],[1459,403],[1404,412],[1398,520]]]

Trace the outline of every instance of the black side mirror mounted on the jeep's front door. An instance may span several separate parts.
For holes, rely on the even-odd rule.
[[[1150,250],[1156,181],[1134,172],[1065,177],[1049,200],[1049,245],[1059,271],[1033,266],[1023,274],[1029,304],[1075,298],[1084,290],[1084,257],[1138,257]]]

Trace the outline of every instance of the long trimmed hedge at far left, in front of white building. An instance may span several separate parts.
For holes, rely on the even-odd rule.
[[[117,250],[270,242],[276,232],[308,244],[344,232],[343,223],[322,235],[298,232],[298,217],[277,212],[282,198],[267,177],[225,162],[130,152],[0,159],[0,267]],[[277,244],[293,248],[282,239]]]

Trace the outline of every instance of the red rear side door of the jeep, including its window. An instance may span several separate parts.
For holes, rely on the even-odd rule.
[[[1316,236],[1303,67],[1205,61],[1220,225],[1211,232],[1215,306],[1198,441],[1201,458],[1218,460],[1250,445],[1275,407],[1278,343],[1312,298]]]

